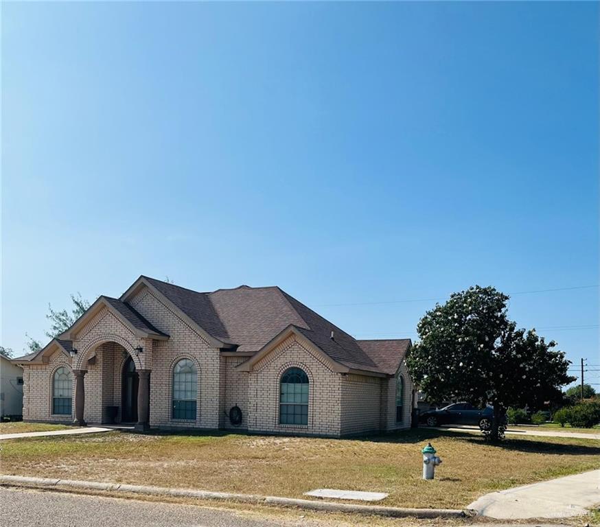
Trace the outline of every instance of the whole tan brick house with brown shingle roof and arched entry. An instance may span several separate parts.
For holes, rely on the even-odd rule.
[[[277,287],[140,277],[23,365],[26,421],[347,436],[408,428],[411,341],[355,340]]]

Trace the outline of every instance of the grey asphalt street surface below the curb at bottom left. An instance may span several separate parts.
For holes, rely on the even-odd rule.
[[[300,517],[261,518],[194,505],[0,488],[0,525],[23,527],[293,527],[314,526]],[[320,524],[320,522],[319,522]]]

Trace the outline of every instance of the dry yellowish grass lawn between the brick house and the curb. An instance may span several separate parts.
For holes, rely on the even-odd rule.
[[[427,441],[443,464],[421,479]],[[1,471],[302,497],[317,488],[383,491],[389,506],[462,508],[483,493],[600,468],[600,441],[411,430],[369,439],[107,432],[3,441]]]

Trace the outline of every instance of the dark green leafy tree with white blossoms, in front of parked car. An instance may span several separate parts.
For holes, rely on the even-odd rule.
[[[454,293],[419,321],[419,341],[406,358],[419,390],[430,399],[494,406],[489,435],[501,434],[509,406],[539,408],[562,397],[573,381],[570,362],[535,329],[517,329],[507,316],[509,296],[478,285]]]

